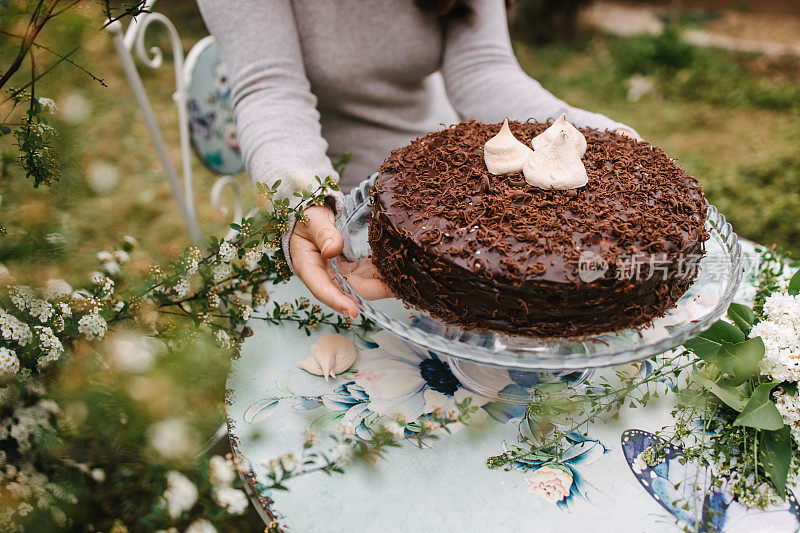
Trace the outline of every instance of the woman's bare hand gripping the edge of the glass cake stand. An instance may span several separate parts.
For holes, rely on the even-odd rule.
[[[358,308],[344,295],[333,277],[329,259],[342,253],[344,241],[334,226],[333,211],[313,206],[305,210],[308,223],[298,222],[289,239],[294,272],[317,300],[343,315],[355,318]],[[387,298],[391,292],[377,278],[375,267],[367,261],[340,263],[342,274],[359,294],[370,300]]]

